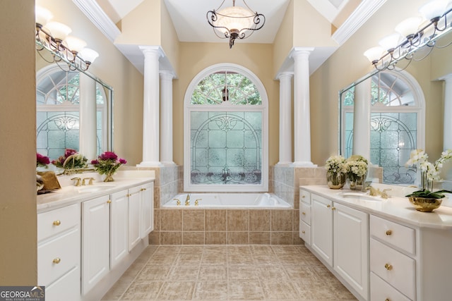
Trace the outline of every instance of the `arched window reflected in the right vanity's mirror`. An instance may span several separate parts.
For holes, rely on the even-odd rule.
[[[365,85],[367,81],[359,83]],[[352,154],[355,86],[341,104],[341,147]],[[371,78],[370,161],[383,167],[383,183],[414,184],[416,171],[405,168],[412,149],[424,148],[424,94],[405,71],[382,71]]]

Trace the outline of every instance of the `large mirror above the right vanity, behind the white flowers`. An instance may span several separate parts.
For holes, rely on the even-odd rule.
[[[451,39],[449,32],[437,44],[447,45]],[[412,61],[405,70],[373,70],[340,90],[339,154],[345,157],[352,154],[354,118],[357,118],[353,114],[355,90],[366,87],[369,90],[366,101],[371,108],[371,163],[383,168],[383,183],[415,184],[415,169],[405,168],[410,151],[425,149],[434,161],[443,150],[444,85],[441,78],[452,73],[451,56],[447,51],[450,49],[435,48],[424,60]]]

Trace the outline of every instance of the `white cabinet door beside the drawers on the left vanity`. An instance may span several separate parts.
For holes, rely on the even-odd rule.
[[[82,203],[82,292],[109,272],[109,196]]]

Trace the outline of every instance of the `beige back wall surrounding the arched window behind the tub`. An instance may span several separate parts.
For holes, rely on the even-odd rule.
[[[222,40],[226,41],[226,40]],[[244,44],[237,41],[232,49],[222,43],[181,43],[179,79],[173,81],[173,146],[174,162],[184,165],[184,96],[191,80],[201,70],[216,63],[236,63],[248,68],[260,78],[269,102],[268,163],[278,162],[279,82],[273,80],[271,44]]]

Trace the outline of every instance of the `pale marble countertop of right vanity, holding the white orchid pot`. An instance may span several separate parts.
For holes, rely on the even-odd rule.
[[[389,195],[391,195],[391,197],[388,199],[382,199],[381,197],[369,197],[369,195],[364,192],[355,192],[347,188],[333,190],[326,185],[306,185],[300,186],[300,188],[320,195],[321,197],[332,199],[339,204],[345,204],[348,207],[367,212],[368,214],[374,214],[410,226],[452,230],[451,207],[443,206],[441,204],[441,206],[433,212],[417,211],[412,207],[408,197],[397,196],[396,191],[391,191],[393,192],[393,195],[390,193]],[[350,196],[354,193],[358,197]],[[364,197],[360,199],[359,195],[364,195]],[[398,195],[400,195],[400,193]],[[405,192],[403,192],[402,195],[405,195]]]

